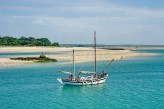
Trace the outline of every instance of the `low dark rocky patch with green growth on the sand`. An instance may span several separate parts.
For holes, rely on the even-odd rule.
[[[39,57],[18,57],[18,58],[10,58],[10,60],[33,61],[39,63],[57,62],[56,59],[50,59],[43,54],[40,55]]]

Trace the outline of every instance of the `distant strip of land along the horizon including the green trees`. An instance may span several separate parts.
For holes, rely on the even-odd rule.
[[[14,38],[12,36],[0,36],[0,46],[61,46],[61,47],[92,47],[93,44],[59,44],[48,38],[25,37]],[[164,45],[145,45],[145,44],[97,44],[97,47],[164,47]]]

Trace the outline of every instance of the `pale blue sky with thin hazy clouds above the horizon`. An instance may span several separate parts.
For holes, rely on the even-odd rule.
[[[0,0],[0,36],[164,45],[164,0]]]

